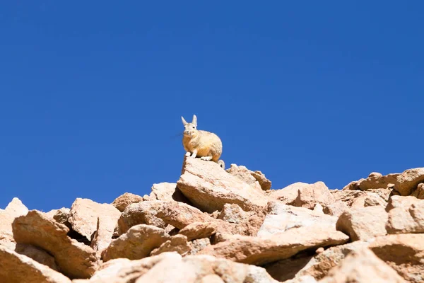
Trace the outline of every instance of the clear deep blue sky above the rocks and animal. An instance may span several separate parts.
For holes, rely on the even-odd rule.
[[[281,188],[423,166],[423,1],[1,1],[0,207],[176,182],[181,115]]]

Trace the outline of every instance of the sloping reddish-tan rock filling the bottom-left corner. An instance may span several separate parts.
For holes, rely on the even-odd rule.
[[[26,255],[0,245],[0,282],[71,283],[71,279]]]

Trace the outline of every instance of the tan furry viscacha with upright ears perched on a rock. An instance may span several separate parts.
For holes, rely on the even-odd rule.
[[[225,168],[224,161],[220,160],[223,153],[223,144],[220,138],[211,132],[197,129],[197,118],[193,116],[193,121],[187,123],[183,117],[182,123],[184,125],[184,136],[182,138],[182,145],[187,156],[200,157],[204,160],[211,160],[218,163],[222,168]]]

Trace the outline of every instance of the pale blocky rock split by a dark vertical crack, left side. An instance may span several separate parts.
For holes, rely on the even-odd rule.
[[[100,239],[98,239],[96,246],[105,248],[112,241],[112,234],[119,216],[121,216],[121,212],[112,204],[100,204],[78,197],[71,206],[68,220],[72,229],[86,237],[88,241],[93,240],[95,231],[101,230],[98,237],[102,237],[103,243],[99,244]]]

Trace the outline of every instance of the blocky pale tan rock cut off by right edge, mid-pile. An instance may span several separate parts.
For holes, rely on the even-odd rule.
[[[424,233],[424,200],[394,195],[387,204],[389,234]]]

